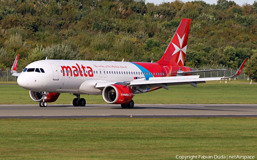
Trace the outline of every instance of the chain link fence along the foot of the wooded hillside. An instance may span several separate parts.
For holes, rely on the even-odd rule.
[[[232,68],[219,68],[219,67],[199,67],[199,68],[193,68],[194,70],[212,70],[212,69],[228,69],[228,70],[222,70],[222,71],[214,71],[214,72],[202,72],[202,73],[195,73],[193,75],[200,75],[200,78],[205,77],[229,77],[236,73],[237,69]],[[8,77],[8,78],[7,78]],[[10,69],[8,70],[8,76],[7,76],[7,70],[0,68],[0,81],[16,81],[17,77],[12,76]],[[236,78],[236,80],[249,80],[248,76],[242,71],[240,76]]]

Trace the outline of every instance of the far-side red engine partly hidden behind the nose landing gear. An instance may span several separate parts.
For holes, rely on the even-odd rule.
[[[43,92],[29,91],[31,99],[36,102],[41,102],[43,100],[44,102],[54,102],[58,99],[60,94],[61,93],[46,92],[46,94],[44,95]]]

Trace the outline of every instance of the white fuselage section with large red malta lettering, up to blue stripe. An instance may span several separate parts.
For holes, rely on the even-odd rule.
[[[26,68],[40,71],[23,71],[17,82],[22,88],[35,92],[102,94],[102,90],[95,88],[97,82],[129,82],[152,77],[143,74],[147,70],[140,70],[130,62],[42,60]]]

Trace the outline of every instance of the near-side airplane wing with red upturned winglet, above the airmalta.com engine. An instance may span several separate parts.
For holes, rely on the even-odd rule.
[[[205,81],[211,80],[221,80],[224,78],[234,78],[240,75],[246,59],[243,61],[242,65],[237,70],[236,74],[230,77],[209,77],[209,78],[199,78],[200,75],[196,76],[172,76],[172,77],[152,77],[149,80],[145,78],[135,79],[130,82],[98,82],[95,88],[103,89],[105,86],[110,84],[122,84],[125,86],[131,86],[133,90],[137,90],[139,92],[143,92],[143,89],[151,88],[151,87],[162,87],[168,90],[168,86],[175,86],[175,85],[183,85],[183,84],[190,84],[194,87],[197,87],[199,83],[205,83]]]

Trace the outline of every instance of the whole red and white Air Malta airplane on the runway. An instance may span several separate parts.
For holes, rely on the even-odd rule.
[[[230,77],[199,78],[192,75],[199,72],[184,66],[191,19],[182,19],[162,58],[155,63],[122,61],[79,61],[46,59],[30,63],[21,73],[17,73],[19,55],[11,68],[17,83],[29,90],[32,100],[40,107],[54,102],[61,93],[73,93],[73,106],[84,107],[86,100],[81,94],[103,95],[105,102],[120,104],[122,108],[133,108],[133,96],[168,86],[197,84],[205,81],[234,78],[240,75],[246,62]]]

